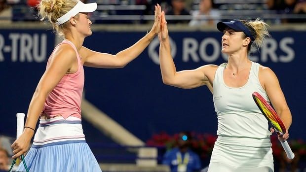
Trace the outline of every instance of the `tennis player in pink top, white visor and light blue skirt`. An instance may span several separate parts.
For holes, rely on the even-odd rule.
[[[29,105],[25,130],[12,144],[12,158],[20,157],[28,151],[35,134],[25,157],[31,172],[101,172],[81,125],[83,66],[123,68],[160,32],[161,9],[157,4],[151,31],[134,45],[116,55],[92,51],[82,44],[92,34],[88,13],[96,9],[97,3],[84,4],[79,0],[41,0],[39,3],[41,20],[48,19],[65,40],[50,55]],[[24,166],[20,165],[17,171],[25,171]]]

